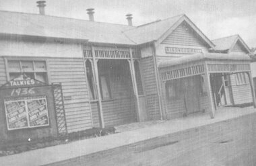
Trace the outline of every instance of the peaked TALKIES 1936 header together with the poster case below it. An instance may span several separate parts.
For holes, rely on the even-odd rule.
[[[45,85],[22,74],[1,87],[8,130],[49,126]]]

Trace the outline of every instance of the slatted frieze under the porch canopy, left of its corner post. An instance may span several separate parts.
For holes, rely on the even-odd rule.
[[[200,75],[204,73],[203,65],[196,65],[193,67],[186,67],[183,69],[177,69],[172,71],[166,71],[162,73],[162,80],[172,80],[172,79],[179,79],[183,77],[188,77],[192,75]]]

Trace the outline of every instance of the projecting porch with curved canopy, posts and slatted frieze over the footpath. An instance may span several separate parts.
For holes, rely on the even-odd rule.
[[[159,65],[167,119],[196,112],[208,112],[214,118],[216,110],[225,106],[256,106],[249,57],[208,53],[189,58],[192,56],[194,61],[183,57]]]

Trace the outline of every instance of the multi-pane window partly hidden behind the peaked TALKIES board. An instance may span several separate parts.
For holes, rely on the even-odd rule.
[[[44,83],[48,82],[46,63],[43,60],[8,60],[9,79],[18,77],[25,73],[32,79],[37,79]]]

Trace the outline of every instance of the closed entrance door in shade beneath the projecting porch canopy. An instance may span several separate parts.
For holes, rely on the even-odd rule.
[[[184,79],[184,103],[187,110],[187,114],[200,111],[199,95],[200,95],[200,83],[199,75],[194,77],[187,77]]]

